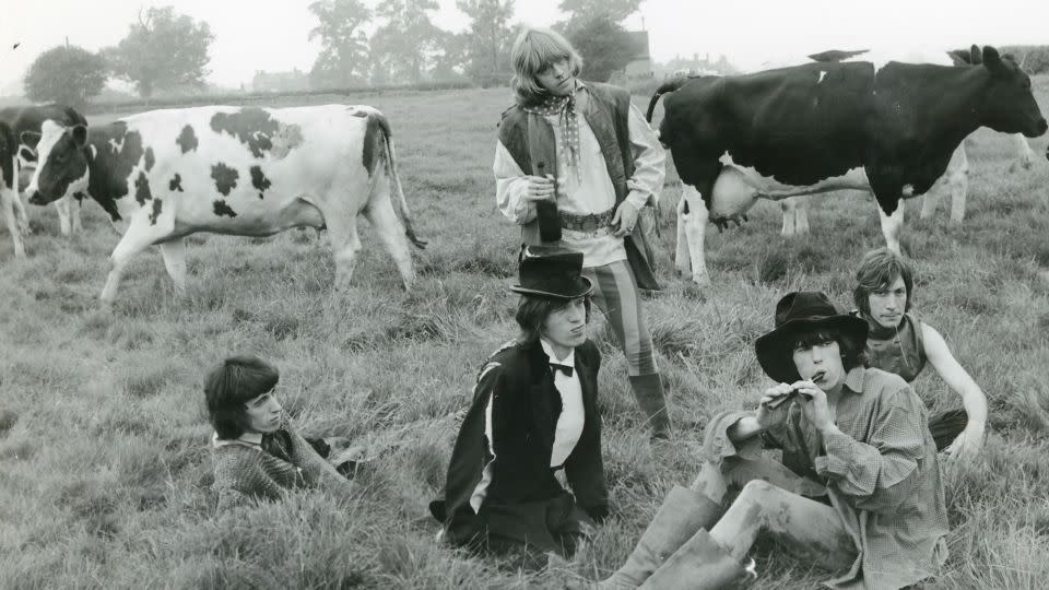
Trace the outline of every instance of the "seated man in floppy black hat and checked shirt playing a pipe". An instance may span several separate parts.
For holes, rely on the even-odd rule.
[[[832,588],[903,588],[939,571],[947,515],[921,400],[863,367],[867,322],[823,293],[785,296],[775,322],[755,349],[779,385],[756,412],[711,418],[692,488],[671,491],[602,588],[723,588],[745,575],[758,534],[833,571]],[[742,489],[726,502],[730,487]]]

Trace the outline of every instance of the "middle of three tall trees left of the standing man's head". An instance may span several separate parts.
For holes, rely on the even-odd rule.
[[[376,14],[386,23],[372,36],[375,84],[404,81],[416,84],[441,54],[444,32],[429,21],[436,0],[382,0]]]

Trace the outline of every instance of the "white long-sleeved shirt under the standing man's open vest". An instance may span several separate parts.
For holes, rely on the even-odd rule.
[[[586,86],[581,86],[577,91],[577,99],[590,99],[588,92]],[[557,208],[573,215],[604,213],[615,206],[615,189],[609,178],[601,145],[582,115],[582,105],[577,106],[575,111],[579,122],[579,169],[575,169],[569,158],[558,153],[557,176],[561,184]],[[553,128],[557,150],[561,150],[563,143],[557,116],[547,116],[545,119]],[[630,105],[627,129],[634,174],[626,181],[629,189],[626,201],[640,211],[646,203],[659,201],[667,156],[656,132],[634,105]],[[496,141],[492,172],[495,174],[495,200],[503,215],[519,225],[535,219],[535,204],[524,198],[529,177],[499,141]],[[602,227],[585,233],[563,228],[562,239],[567,247],[582,252],[585,268],[601,267],[626,259],[623,238],[613,236],[613,231]]]

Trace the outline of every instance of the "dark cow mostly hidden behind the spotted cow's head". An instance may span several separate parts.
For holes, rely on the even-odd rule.
[[[15,190],[25,188],[28,184],[33,170],[36,169],[36,141],[39,139],[40,128],[44,121],[52,120],[67,127],[74,125],[87,125],[87,119],[72,108],[58,104],[17,106],[0,108],[0,121],[9,123],[14,129],[14,135],[17,138],[19,145],[19,166],[20,177],[19,187]],[[75,201],[74,202],[74,197]],[[83,194],[63,197],[55,201],[55,211],[58,212],[59,229],[63,236],[73,232],[79,232],[80,208],[83,202]],[[21,208],[21,199],[17,201]],[[21,209],[22,222],[26,231],[28,229],[28,219],[25,216],[25,209]]]

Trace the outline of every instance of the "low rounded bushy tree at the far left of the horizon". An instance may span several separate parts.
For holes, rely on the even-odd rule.
[[[60,45],[40,54],[30,66],[25,96],[40,103],[83,106],[102,92],[107,75],[106,61],[98,54]]]

